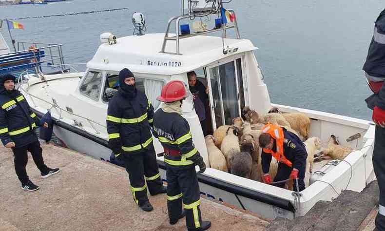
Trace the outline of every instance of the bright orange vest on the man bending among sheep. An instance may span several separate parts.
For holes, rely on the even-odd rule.
[[[284,155],[284,130],[278,125],[269,123],[262,128],[262,133],[270,134],[270,136],[275,140],[277,151],[274,152],[271,149],[264,148],[263,152],[270,153],[278,162],[284,163],[291,167],[291,162]]]

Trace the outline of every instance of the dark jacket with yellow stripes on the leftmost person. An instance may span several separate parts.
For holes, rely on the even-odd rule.
[[[5,146],[15,142],[20,148],[38,141],[35,128],[39,119],[31,111],[27,100],[18,91],[8,92],[4,89],[4,81],[0,79],[0,139]]]

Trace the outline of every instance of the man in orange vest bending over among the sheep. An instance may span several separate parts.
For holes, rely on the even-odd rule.
[[[295,179],[298,179],[299,191],[305,189],[304,178],[308,153],[304,143],[297,135],[278,125],[267,124],[262,128],[259,145],[262,148],[261,163],[265,183],[272,183],[269,170],[271,157],[274,157],[279,162],[274,182],[290,178],[294,181],[294,191],[297,191]],[[283,188],[285,182],[275,185]]]

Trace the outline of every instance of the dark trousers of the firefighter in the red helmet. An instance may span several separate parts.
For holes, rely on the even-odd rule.
[[[170,221],[179,219],[182,202],[186,213],[188,230],[198,229],[202,225],[200,212],[200,193],[195,166],[177,168],[167,164],[167,208]]]

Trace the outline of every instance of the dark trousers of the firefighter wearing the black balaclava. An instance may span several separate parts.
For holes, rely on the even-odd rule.
[[[149,145],[150,146],[150,145]],[[154,195],[163,190],[158,164],[156,162],[154,146],[143,149],[143,152],[130,154],[123,152],[124,164],[130,179],[130,190],[134,201],[139,206],[148,201],[147,187]]]

